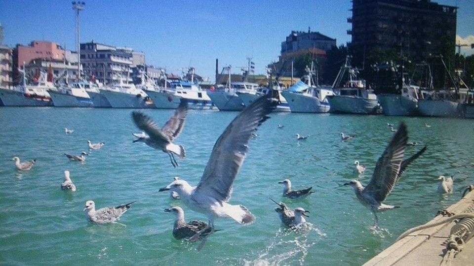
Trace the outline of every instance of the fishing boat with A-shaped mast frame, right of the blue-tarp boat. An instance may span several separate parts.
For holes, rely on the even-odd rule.
[[[380,109],[377,96],[367,89],[365,80],[358,79],[358,69],[353,68],[350,56],[341,66],[332,84],[334,95],[327,96],[331,113],[376,114]],[[343,84],[344,80],[346,82]],[[343,84],[343,85],[342,85]]]

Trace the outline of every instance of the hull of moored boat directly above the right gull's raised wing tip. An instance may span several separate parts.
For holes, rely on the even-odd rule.
[[[398,94],[379,94],[377,100],[382,106],[384,115],[413,116],[416,114],[417,100]]]

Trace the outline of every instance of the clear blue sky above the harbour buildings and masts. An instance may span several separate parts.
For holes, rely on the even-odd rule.
[[[147,64],[179,73],[194,66],[214,78],[215,59],[256,72],[276,61],[280,43],[292,30],[318,31],[346,44],[350,0],[85,0],[80,13],[81,42],[102,42],[145,52]],[[437,0],[459,6],[457,34],[474,40],[474,0]],[[76,50],[76,17],[67,0],[0,0],[3,43],[50,40]],[[463,52],[473,53],[464,49]],[[234,72],[233,71],[233,72]]]

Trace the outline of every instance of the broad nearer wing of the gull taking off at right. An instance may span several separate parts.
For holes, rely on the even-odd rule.
[[[404,123],[398,127],[392,141],[390,141],[384,153],[377,161],[374,174],[364,192],[371,195],[377,201],[384,201],[392,191],[398,180],[401,160],[405,155],[408,132]]]

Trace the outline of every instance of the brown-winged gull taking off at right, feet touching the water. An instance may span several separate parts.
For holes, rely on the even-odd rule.
[[[384,153],[377,161],[369,184],[365,188],[357,180],[351,180],[349,183],[344,184],[345,186],[352,186],[360,203],[372,211],[375,216],[374,227],[376,228],[378,228],[377,212],[399,208],[399,206],[386,205],[382,201],[390,194],[406,166],[427,149],[425,146],[412,157],[402,161],[405,155],[407,139],[408,133],[405,123],[401,123],[398,127],[398,132],[395,133],[389,145],[385,148]]]

